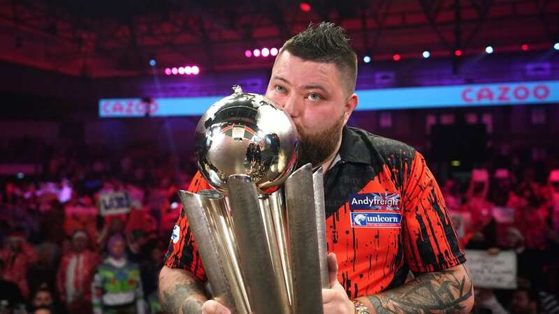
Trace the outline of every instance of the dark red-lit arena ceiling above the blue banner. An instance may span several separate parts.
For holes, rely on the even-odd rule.
[[[279,47],[310,22],[347,29],[373,61],[546,50],[559,41],[551,0],[0,0],[0,60],[80,77],[196,64],[202,72],[270,68],[245,50]]]

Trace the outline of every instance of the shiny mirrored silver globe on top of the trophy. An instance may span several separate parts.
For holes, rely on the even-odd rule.
[[[260,191],[282,184],[295,167],[298,143],[289,114],[235,85],[198,121],[194,150],[203,177],[227,194],[232,174],[246,174]]]

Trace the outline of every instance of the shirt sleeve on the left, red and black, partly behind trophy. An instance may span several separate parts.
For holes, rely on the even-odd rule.
[[[202,174],[197,172],[188,188],[189,192],[197,193],[199,190],[208,190],[210,185],[203,179]],[[201,281],[205,281],[205,271],[198,246],[190,230],[186,211],[181,211],[177,223],[173,229],[173,236],[169,241],[167,253],[165,255],[165,266],[175,269],[184,269],[193,274]]]

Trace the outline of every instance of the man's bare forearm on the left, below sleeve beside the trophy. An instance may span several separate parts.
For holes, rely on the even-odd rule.
[[[206,297],[189,273],[164,268],[159,276],[159,299],[166,313],[200,314]]]

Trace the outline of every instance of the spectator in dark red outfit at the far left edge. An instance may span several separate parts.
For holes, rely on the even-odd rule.
[[[27,243],[21,230],[15,230],[10,234],[8,246],[0,251],[0,259],[4,261],[2,278],[16,283],[23,296],[29,297],[27,269],[36,262],[37,255]]]

